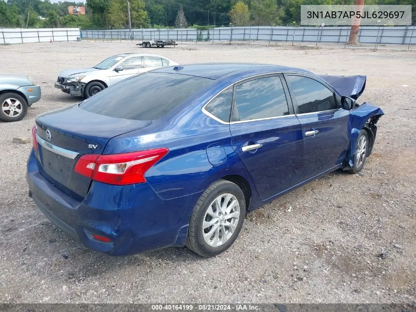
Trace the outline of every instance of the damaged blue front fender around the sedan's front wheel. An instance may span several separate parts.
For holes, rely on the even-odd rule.
[[[354,166],[355,147],[362,129],[366,129],[368,132],[369,145],[367,156],[371,154],[377,134],[377,122],[383,115],[384,111],[379,106],[371,103],[361,104],[351,111],[348,124],[351,139],[344,169],[350,169]]]

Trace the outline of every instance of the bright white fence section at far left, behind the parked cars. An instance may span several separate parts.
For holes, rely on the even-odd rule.
[[[76,41],[79,28],[0,28],[0,44]]]

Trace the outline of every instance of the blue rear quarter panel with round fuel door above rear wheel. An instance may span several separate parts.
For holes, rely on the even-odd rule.
[[[113,138],[104,153],[167,147],[169,153],[145,175],[163,200],[202,192],[211,183],[229,174],[241,175],[251,182],[247,170],[231,147],[229,125],[221,124],[201,113],[199,118],[192,120],[191,127],[143,133],[160,126],[159,122],[153,122],[151,127],[138,130],[137,134],[140,135],[137,137],[130,133],[128,137],[125,135]],[[224,160],[223,156],[213,156],[221,151],[218,148],[220,145],[224,148]],[[215,148],[207,151],[208,146]]]

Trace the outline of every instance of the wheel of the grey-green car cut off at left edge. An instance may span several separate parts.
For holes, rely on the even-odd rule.
[[[3,109],[7,107],[10,107],[10,109]],[[0,95],[0,120],[6,122],[19,121],[25,118],[27,112],[28,102],[21,95],[14,92]]]

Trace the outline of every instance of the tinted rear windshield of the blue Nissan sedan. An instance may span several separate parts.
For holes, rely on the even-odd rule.
[[[118,83],[79,106],[110,117],[153,120],[212,82],[201,77],[147,72]]]

